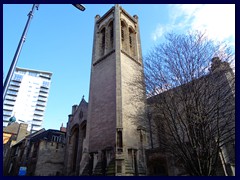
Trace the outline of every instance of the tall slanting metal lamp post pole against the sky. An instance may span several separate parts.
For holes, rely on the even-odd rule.
[[[13,57],[13,60],[12,60],[11,66],[10,66],[10,69],[8,71],[7,77],[6,77],[4,85],[3,85],[3,101],[5,99],[5,96],[6,96],[6,93],[7,93],[7,89],[8,89],[8,86],[10,84],[10,81],[12,79],[13,73],[15,71],[15,68],[16,68],[16,65],[17,65],[17,61],[18,61],[18,57],[19,57],[20,52],[22,50],[23,43],[26,40],[27,31],[28,31],[28,28],[29,28],[29,25],[30,25],[30,21],[31,21],[31,19],[33,17],[33,14],[34,14],[34,10],[35,10],[35,8],[38,10],[38,7],[39,7],[39,4],[33,4],[32,10],[28,13],[27,23],[26,23],[25,28],[23,30],[22,37],[21,37],[21,39],[20,39],[20,41],[18,43],[17,50],[15,52],[15,55]]]

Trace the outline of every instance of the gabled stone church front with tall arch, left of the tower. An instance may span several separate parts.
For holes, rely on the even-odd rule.
[[[88,164],[88,153],[86,151],[87,116],[88,103],[83,97],[79,105],[72,106],[72,113],[69,115],[67,122],[63,172],[66,176],[88,173],[80,171],[80,167],[86,167]]]

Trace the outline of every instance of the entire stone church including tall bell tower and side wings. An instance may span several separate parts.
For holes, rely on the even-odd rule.
[[[232,136],[235,134],[233,117],[235,111],[229,113],[230,109],[235,109],[235,88],[232,88],[235,85],[230,83],[232,77],[235,78],[235,75],[230,66],[226,62],[221,62],[219,58],[213,58],[209,75],[147,99],[138,17],[129,15],[119,5],[112,7],[102,17],[96,15],[89,100],[87,103],[83,97],[79,105],[72,107],[72,113],[69,115],[63,174],[66,176],[190,175],[185,171],[186,169],[183,169],[182,162],[176,158],[176,153],[172,153],[171,147],[174,146],[169,146],[171,143],[174,145],[174,141],[169,141],[171,133],[163,124],[163,122],[169,124],[168,116],[165,113],[165,118],[162,118],[158,112],[162,113],[163,105],[168,101],[172,103],[173,100],[176,103],[174,108],[182,108],[184,103],[178,100],[178,96],[187,94],[191,97],[193,95],[191,91],[184,93],[183,90],[189,92],[192,84],[201,85],[197,91],[200,94],[206,92],[202,87],[206,87],[204,90],[211,92],[201,94],[200,97],[204,97],[201,101],[206,99],[205,96],[217,98],[213,86],[219,87],[221,83],[219,92],[224,91],[222,101],[216,102],[227,105],[219,109],[223,114],[225,113],[225,116],[215,119],[220,119],[224,124],[231,123],[228,127]],[[171,99],[169,94],[172,95]],[[206,107],[211,107],[212,101],[208,99],[206,103],[209,103]],[[188,108],[191,109],[192,106]],[[181,113],[181,116],[185,117],[186,112]],[[174,117],[174,120],[177,118]],[[209,120],[211,120],[210,116]],[[197,129],[203,127],[202,124],[195,124]],[[189,127],[189,132],[192,132],[192,126]],[[181,134],[185,131],[177,132]],[[196,139],[199,139],[199,134],[195,133]],[[179,137],[185,136],[179,135]],[[215,136],[211,137],[215,142]],[[189,142],[187,139],[182,144],[188,147]],[[166,151],[166,147],[170,147],[169,152],[172,154]],[[216,157],[220,156],[216,158],[219,161],[216,175],[235,175],[234,136],[224,146],[222,145],[220,151],[220,154],[217,151],[215,154]],[[204,158],[201,160],[205,161]]]

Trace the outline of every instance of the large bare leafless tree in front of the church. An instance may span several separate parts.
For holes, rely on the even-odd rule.
[[[234,60],[201,32],[168,34],[144,59],[154,147],[188,175],[235,173]]]

